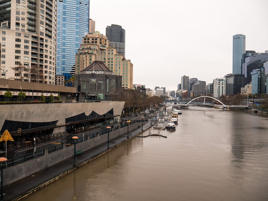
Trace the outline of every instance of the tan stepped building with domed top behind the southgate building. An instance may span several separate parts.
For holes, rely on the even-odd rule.
[[[122,88],[132,88],[133,64],[110,46],[106,36],[95,31],[86,34],[76,53],[76,74],[84,70],[93,61],[102,61],[115,75],[122,76]]]

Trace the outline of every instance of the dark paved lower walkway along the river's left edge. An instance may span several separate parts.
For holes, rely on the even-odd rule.
[[[131,118],[128,118],[131,120]],[[155,121],[152,121],[152,125]],[[67,175],[68,173],[75,171],[77,168],[85,165],[86,163],[100,157],[101,155],[107,153],[108,151],[116,148],[122,143],[131,140],[136,135],[150,129],[151,121],[143,122],[142,127],[138,127],[128,133],[129,139],[127,139],[127,133],[109,140],[109,149],[107,148],[107,142],[100,144],[99,146],[85,151],[79,155],[76,155],[76,167],[73,167],[74,158],[71,157],[63,162],[60,162],[52,167],[44,169],[43,171],[36,172],[34,175],[25,177],[11,185],[5,186],[3,188],[3,198],[6,201],[17,201],[25,198],[26,196],[34,193],[35,191],[49,185],[50,183],[58,180],[59,178]],[[143,131],[141,129],[143,128]],[[3,175],[3,180],[5,176]]]

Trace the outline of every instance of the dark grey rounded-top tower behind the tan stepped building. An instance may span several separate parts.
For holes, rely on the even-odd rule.
[[[119,54],[125,57],[125,35],[126,31],[122,26],[111,25],[106,27],[106,37],[110,41],[110,45],[117,49]]]

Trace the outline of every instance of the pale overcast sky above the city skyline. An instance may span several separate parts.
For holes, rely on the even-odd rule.
[[[133,84],[175,91],[183,75],[209,84],[232,73],[235,34],[246,50],[268,50],[267,9],[268,0],[90,0],[96,31],[126,30]]]

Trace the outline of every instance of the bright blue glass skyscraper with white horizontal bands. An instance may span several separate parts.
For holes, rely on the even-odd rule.
[[[75,55],[89,32],[89,0],[58,0],[57,75],[75,74]]]

